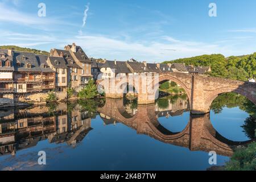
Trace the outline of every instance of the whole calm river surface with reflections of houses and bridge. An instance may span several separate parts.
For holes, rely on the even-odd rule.
[[[185,96],[152,105],[104,99],[0,110],[2,170],[205,170],[250,143],[245,111],[191,115]],[[247,133],[246,133],[247,131]],[[38,164],[45,151],[46,165]]]

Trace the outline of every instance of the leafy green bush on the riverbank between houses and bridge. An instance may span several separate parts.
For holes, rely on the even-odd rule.
[[[88,85],[83,88],[78,96],[80,99],[91,99],[98,95],[97,86],[94,84],[94,80],[89,80]]]

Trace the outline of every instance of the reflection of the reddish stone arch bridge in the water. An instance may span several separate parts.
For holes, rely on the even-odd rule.
[[[138,134],[148,135],[164,143],[187,147],[191,151],[216,151],[219,155],[232,156],[234,148],[251,142],[236,142],[222,137],[212,126],[209,113],[191,115],[185,129],[180,133],[173,133],[160,125],[159,112],[156,111],[155,104],[138,105],[135,115],[131,115],[123,106],[122,99],[106,98],[105,105],[98,107],[98,112],[102,118],[121,122],[137,130]]]

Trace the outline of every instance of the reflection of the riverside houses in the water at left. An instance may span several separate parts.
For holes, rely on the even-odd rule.
[[[0,112],[0,154],[15,155],[39,141],[75,145],[92,130],[86,111],[74,109],[68,113],[67,104],[59,104],[49,113],[47,106],[16,108]]]

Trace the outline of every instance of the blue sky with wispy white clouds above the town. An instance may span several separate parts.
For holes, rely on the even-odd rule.
[[[212,2],[217,17],[208,15]],[[245,55],[256,52],[255,7],[255,0],[0,0],[0,44],[49,51],[75,42],[91,57],[152,63]]]

